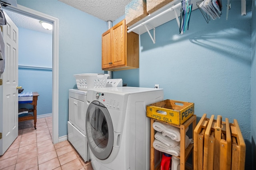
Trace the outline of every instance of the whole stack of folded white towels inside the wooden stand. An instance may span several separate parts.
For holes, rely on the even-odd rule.
[[[153,147],[160,152],[180,156],[180,129],[158,121],[153,123],[153,128],[158,131],[155,134]],[[186,132],[187,131],[188,128],[186,129]],[[185,147],[187,148],[192,142],[192,139],[189,139],[186,135]]]

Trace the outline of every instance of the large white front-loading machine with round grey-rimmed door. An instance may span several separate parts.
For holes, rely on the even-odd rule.
[[[164,99],[162,89],[89,89],[86,134],[94,170],[149,170],[150,118],[146,105]]]

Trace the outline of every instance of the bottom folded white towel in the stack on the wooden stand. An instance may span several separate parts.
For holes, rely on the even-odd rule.
[[[192,142],[192,139],[189,139],[188,136],[186,136],[186,138],[185,138],[185,143],[186,143],[185,148],[187,148],[188,145],[191,142]],[[154,149],[159,150],[160,152],[165,152],[167,154],[171,154],[171,155],[174,155],[174,156],[180,156],[180,144],[176,147],[168,147],[164,143],[155,139],[154,142],[153,142],[153,147],[154,147]]]

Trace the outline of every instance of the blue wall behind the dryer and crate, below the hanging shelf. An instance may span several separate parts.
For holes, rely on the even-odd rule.
[[[226,7],[227,1],[222,4]],[[113,78],[123,78],[128,86],[160,84],[165,99],[193,102],[197,121],[204,113],[222,115],[231,123],[237,119],[246,142],[246,166],[251,167],[251,138],[256,133],[255,113],[251,113],[252,1],[246,1],[246,16],[241,16],[241,1],[231,4],[228,20],[226,8],[220,19],[209,23],[200,10],[194,10],[184,35],[179,34],[176,20],[156,27],[155,44],[147,32],[140,35],[140,68],[113,72]],[[252,41],[255,48],[255,35]],[[255,79],[255,63],[253,68]],[[255,89],[252,93],[255,107]]]

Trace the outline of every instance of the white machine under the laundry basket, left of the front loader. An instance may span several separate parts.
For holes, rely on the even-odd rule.
[[[86,162],[90,160],[85,129],[87,91],[69,89],[68,93],[68,141]]]

